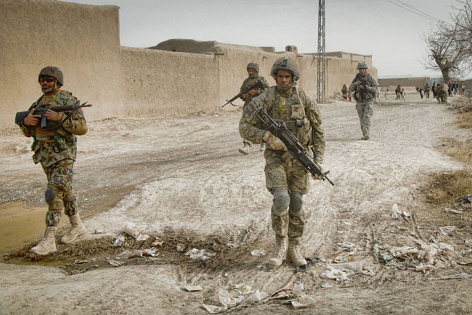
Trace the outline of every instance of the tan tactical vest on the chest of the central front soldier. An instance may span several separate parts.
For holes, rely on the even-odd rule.
[[[296,86],[287,98],[277,93],[276,86],[270,87],[267,92],[269,116],[277,123],[285,123],[303,145],[308,145],[311,140],[311,125],[305,113],[306,103],[305,92]]]

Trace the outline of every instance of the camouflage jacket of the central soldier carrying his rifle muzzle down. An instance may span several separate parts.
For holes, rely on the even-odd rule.
[[[284,122],[307,149],[312,145],[316,153],[315,160],[323,162],[324,130],[321,126],[320,110],[310,95],[296,86],[289,95],[282,95],[277,87],[273,86],[254,97],[244,106],[239,120],[240,135],[254,143],[261,143],[266,133],[265,125],[253,115],[254,110],[260,106],[273,120]]]

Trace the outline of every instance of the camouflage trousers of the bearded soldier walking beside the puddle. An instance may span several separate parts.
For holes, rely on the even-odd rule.
[[[48,188],[56,191],[56,198],[48,204],[46,213],[46,225],[58,226],[62,215],[62,208],[67,216],[78,213],[77,203],[72,193],[72,174],[74,160],[66,158],[54,163],[49,167],[43,166],[44,173],[48,178]]]

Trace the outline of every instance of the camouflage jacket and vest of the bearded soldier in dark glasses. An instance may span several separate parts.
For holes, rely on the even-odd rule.
[[[59,90],[55,95],[42,95],[29,108],[42,108],[50,106],[73,105],[77,103],[77,98],[70,92]],[[54,163],[70,158],[75,160],[77,156],[77,139],[75,135],[87,133],[87,123],[81,110],[72,112],[62,112],[60,122],[49,121],[47,128],[38,126],[26,126],[24,122],[19,125],[23,134],[33,137],[31,151],[34,152],[34,163],[41,162],[44,167],[49,167]],[[42,141],[37,138],[48,138],[51,140]]]

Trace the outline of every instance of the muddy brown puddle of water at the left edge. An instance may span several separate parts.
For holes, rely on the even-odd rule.
[[[23,202],[0,204],[0,261],[3,261],[3,254],[26,246],[44,235],[47,211],[47,207],[28,207]],[[67,219],[67,216],[62,215],[59,228],[69,223]]]

